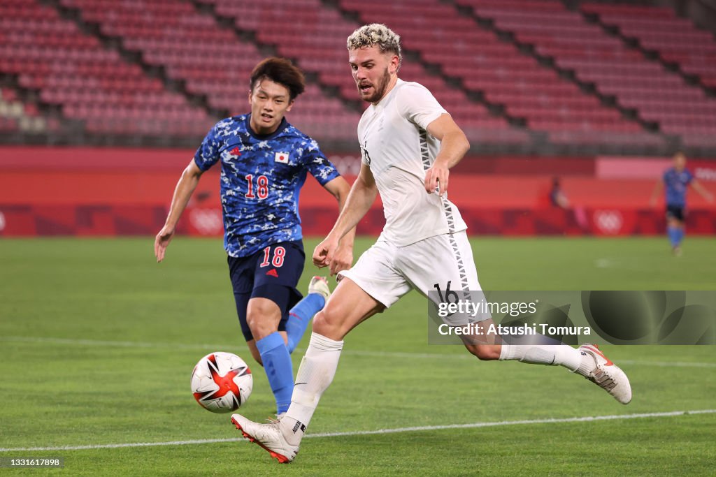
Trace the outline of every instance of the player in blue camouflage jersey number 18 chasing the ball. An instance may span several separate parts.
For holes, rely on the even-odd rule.
[[[286,59],[256,65],[251,112],[223,119],[208,132],[184,169],[154,243],[161,262],[201,174],[221,162],[224,248],[236,312],[251,355],[266,370],[277,415],[289,408],[294,387],[289,354],[329,296],[322,277],[311,280],[303,300],[296,290],[305,262],[299,192],[306,172],[338,200],[339,209],[350,190],[314,139],[284,118],[304,88],[304,75]],[[353,239],[354,231],[341,241],[337,272],[353,261]]]

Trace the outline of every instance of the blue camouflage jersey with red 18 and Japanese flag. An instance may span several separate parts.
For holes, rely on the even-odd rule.
[[[194,155],[205,171],[221,159],[224,248],[247,257],[276,242],[301,240],[299,193],[311,172],[321,185],[338,171],[311,137],[284,118],[274,134],[258,136],[251,114],[222,119]]]

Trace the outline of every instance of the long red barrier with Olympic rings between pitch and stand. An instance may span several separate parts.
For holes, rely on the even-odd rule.
[[[187,149],[0,148],[0,236],[154,235],[192,155]],[[354,158],[328,155],[342,169],[357,170]],[[662,204],[649,207],[649,197],[667,165],[653,158],[467,157],[451,176],[449,195],[473,236],[653,235],[664,230],[664,214]],[[716,195],[716,163],[690,166]],[[556,172],[571,209],[551,206]],[[689,200],[689,232],[715,234],[716,205],[695,192]],[[337,217],[334,200],[312,178],[301,191],[300,212],[305,235],[324,235]],[[377,235],[383,225],[378,201],[359,233]],[[221,235],[218,169],[203,176],[179,228]]]

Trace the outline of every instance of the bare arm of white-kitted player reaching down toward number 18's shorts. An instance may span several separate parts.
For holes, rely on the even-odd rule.
[[[353,187],[351,187],[336,224],[325,240],[316,245],[313,255],[313,262],[316,267],[332,265],[339,242],[345,235],[355,229],[358,222],[375,202],[377,195],[378,188],[375,185],[375,179],[372,172],[370,172],[370,168],[366,164],[361,164],[358,177],[353,183]],[[332,267],[331,275],[333,274]]]

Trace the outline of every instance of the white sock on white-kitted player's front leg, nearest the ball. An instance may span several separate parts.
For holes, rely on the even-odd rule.
[[[335,341],[318,333],[311,333],[309,348],[296,373],[291,405],[281,419],[284,437],[291,445],[295,446],[301,441],[321,395],[336,374],[342,349],[343,341]]]

